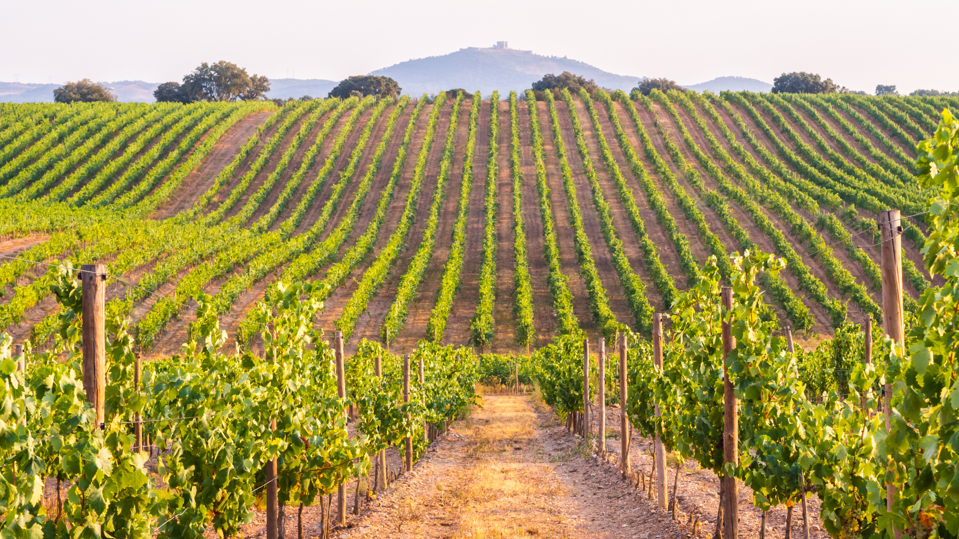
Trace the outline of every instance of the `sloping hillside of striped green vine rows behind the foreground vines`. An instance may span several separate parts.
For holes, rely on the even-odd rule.
[[[577,326],[648,334],[710,257],[728,277],[761,249],[788,263],[760,279],[767,316],[812,340],[880,315],[876,214],[925,210],[916,143],[959,105],[545,95],[0,105],[0,326],[49,346],[57,266],[104,263],[148,357],[177,353],[199,293],[225,347],[262,347],[247,314],[292,282],[349,353],[519,352]],[[906,309],[930,285],[908,221]]]

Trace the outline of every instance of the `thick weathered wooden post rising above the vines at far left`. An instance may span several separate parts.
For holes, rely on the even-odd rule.
[[[106,321],[104,299],[106,266],[83,264],[80,267],[83,311],[83,391],[86,402],[97,411],[97,425],[104,426],[106,396]]]

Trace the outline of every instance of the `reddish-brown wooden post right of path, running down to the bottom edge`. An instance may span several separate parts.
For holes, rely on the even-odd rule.
[[[736,340],[733,338],[733,327],[731,317],[733,316],[733,289],[732,287],[722,288],[722,358],[723,358],[723,461],[726,464],[737,464],[737,447],[739,445],[739,428],[737,425],[737,402],[736,393],[733,391],[733,382],[729,378],[729,365],[727,358],[730,352],[736,348]],[[725,493],[725,506],[723,507],[723,539],[738,539],[739,532],[739,491],[736,483],[736,476],[732,476],[728,471],[723,472],[723,491]]]

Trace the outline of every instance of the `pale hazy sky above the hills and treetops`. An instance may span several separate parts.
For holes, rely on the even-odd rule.
[[[289,69],[297,79],[339,80],[508,40],[681,84],[812,71],[870,93],[877,83],[954,91],[959,72],[940,27],[956,10],[955,0],[48,0],[42,8],[7,0],[0,81],[179,81],[219,59],[273,79]],[[938,49],[922,54],[927,43]]]

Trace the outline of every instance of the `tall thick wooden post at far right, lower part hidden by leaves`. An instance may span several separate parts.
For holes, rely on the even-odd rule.
[[[896,342],[899,351],[902,350],[905,336],[902,330],[902,223],[899,210],[885,210],[879,212],[879,240],[882,245],[880,260],[882,262],[882,329],[890,339]],[[892,385],[885,380],[883,390],[885,399],[883,410],[886,415],[886,432],[892,428],[890,415],[892,414]],[[890,468],[895,473],[895,469]],[[886,484],[886,510],[893,510],[893,498],[896,496],[896,486]],[[898,538],[900,531],[896,530]]]

